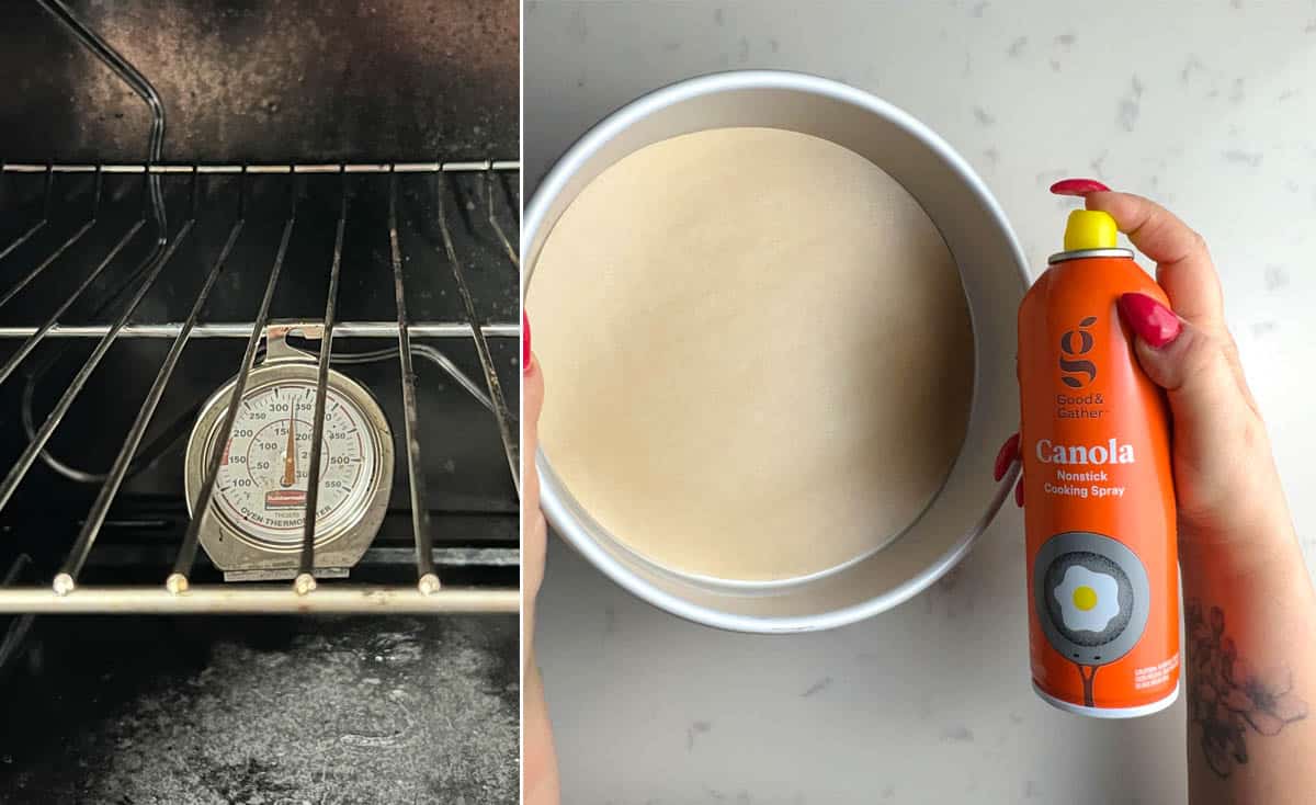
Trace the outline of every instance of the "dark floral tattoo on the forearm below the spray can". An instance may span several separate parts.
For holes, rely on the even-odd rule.
[[[1211,771],[1228,777],[1248,763],[1248,731],[1278,735],[1307,717],[1307,702],[1294,693],[1294,673],[1280,666],[1258,672],[1238,656],[1225,634],[1225,613],[1187,602],[1188,720],[1202,727],[1202,751]]]

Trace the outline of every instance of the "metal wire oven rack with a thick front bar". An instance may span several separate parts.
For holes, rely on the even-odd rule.
[[[46,183],[46,199],[43,212],[30,226],[22,229],[8,243],[0,243],[0,270],[13,274],[18,279],[11,285],[0,288],[0,314],[7,305],[22,299],[24,289],[45,274],[59,258],[74,249],[88,229],[99,220],[101,182],[107,175],[139,174],[143,178],[142,212],[132,224],[126,225],[122,235],[95,268],[92,268],[82,284],[63,300],[55,310],[38,325],[32,326],[0,326],[0,343],[21,342],[17,349],[0,366],[0,384],[12,378],[38,345],[47,339],[96,339],[96,346],[86,359],[79,372],[70,381],[67,389],[55,404],[54,409],[41,425],[22,451],[22,455],[8,468],[4,468],[4,477],[0,479],[0,512],[11,502],[14,491],[22,483],[28,471],[34,464],[41,450],[59,427],[63,416],[72,406],[78,395],[86,385],[92,371],[104,358],[105,353],[117,339],[129,338],[164,338],[171,339],[168,355],[161,363],[151,381],[142,408],[138,412],[132,427],[126,434],[113,434],[108,438],[121,438],[122,446],[116,454],[114,462],[107,474],[100,492],[86,514],[82,530],[70,549],[59,572],[46,585],[20,585],[16,579],[17,572],[7,577],[8,584],[0,587],[0,613],[454,613],[454,612],[516,612],[519,608],[519,591],[513,588],[450,588],[441,581],[442,551],[434,549],[433,535],[429,522],[429,508],[425,502],[426,487],[422,477],[422,464],[420,452],[422,449],[418,438],[418,412],[416,404],[416,378],[411,366],[411,339],[424,338],[470,338],[475,353],[479,356],[480,368],[484,374],[484,389],[492,402],[492,412],[496,420],[499,434],[503,442],[503,451],[507,458],[508,470],[513,484],[520,491],[519,481],[519,451],[516,430],[513,427],[513,413],[508,406],[508,395],[504,393],[499,381],[494,359],[490,353],[490,339],[515,339],[520,337],[519,322],[482,321],[476,312],[475,299],[471,293],[471,283],[458,254],[455,239],[447,224],[443,209],[445,193],[437,193],[440,209],[437,212],[441,247],[436,245],[438,258],[446,262],[451,278],[455,283],[461,308],[465,313],[462,321],[413,321],[407,309],[407,274],[403,270],[405,255],[399,238],[397,213],[397,184],[399,176],[429,174],[436,182],[443,182],[445,175],[472,175],[483,179],[478,187],[483,187],[483,210],[479,220],[490,228],[500,250],[505,253],[507,283],[509,287],[517,285],[517,255],[512,246],[513,239],[499,224],[495,214],[496,182],[512,182],[519,178],[520,163],[507,159],[486,159],[476,162],[396,162],[396,163],[359,163],[359,164],[30,164],[30,163],[0,163],[0,182],[12,174],[43,174]],[[49,188],[55,176],[64,174],[91,174],[95,182],[93,207],[88,222],[75,229],[67,238],[57,245],[41,259],[34,259],[21,267],[12,264],[11,256],[22,254],[18,247],[32,239],[41,229],[54,221],[53,204]],[[318,447],[324,429],[324,405],[326,399],[328,367],[333,354],[334,338],[383,338],[396,339],[397,355],[401,375],[401,400],[404,410],[405,435],[400,441],[405,445],[405,464],[409,487],[409,504],[412,517],[412,534],[415,541],[415,585],[367,585],[351,581],[324,581],[315,575],[315,517],[307,517],[307,529],[303,534],[299,572],[292,584],[192,584],[191,572],[196,559],[197,531],[201,517],[212,512],[211,492],[217,480],[218,460],[212,460],[207,468],[205,481],[201,487],[200,499],[195,506],[199,516],[192,517],[182,542],[176,550],[172,570],[158,585],[99,585],[84,587],[79,584],[79,573],[95,549],[96,537],[105,524],[111,504],[121,488],[130,463],[138,447],[142,445],[146,430],[157,405],[163,396],[170,378],[176,368],[184,347],[192,339],[201,338],[234,338],[245,339],[246,350],[242,363],[237,367],[237,381],[230,397],[229,412],[236,413],[236,401],[241,397],[246,378],[254,367],[259,342],[271,321],[276,321],[271,310],[271,301],[275,296],[280,271],[288,251],[290,238],[299,221],[297,205],[300,200],[299,182],[304,182],[307,175],[333,174],[338,176],[338,216],[337,228],[326,237],[333,239],[333,256],[328,271],[328,291],[324,316],[317,321],[308,322],[320,331],[318,375],[316,385],[316,416],[312,435],[312,460],[309,463],[311,477],[308,481],[307,512],[316,508],[316,495],[318,489],[320,463]],[[361,175],[383,174],[387,180],[387,232],[379,237],[388,243],[388,259],[383,271],[391,278],[395,296],[396,316],[393,321],[337,321],[338,283],[342,270],[343,232],[349,218],[349,199],[351,183],[365,179]],[[283,175],[290,183],[290,204],[286,218],[282,222],[282,239],[276,253],[270,259],[265,276],[265,295],[259,310],[251,321],[242,322],[201,322],[200,316],[216,280],[228,268],[226,263],[233,253],[234,245],[241,239],[246,225],[247,185],[253,176]],[[164,225],[161,207],[154,207],[153,199],[158,199],[158,183],[162,176],[182,176],[191,182],[191,200],[188,217],[182,221],[174,232]],[[199,212],[197,193],[199,185],[211,178],[226,178],[238,183],[237,210],[229,225],[228,237],[222,239],[222,246],[215,253],[211,262],[204,266],[204,281],[192,300],[190,313],[182,321],[150,322],[138,321],[134,313],[150,289],[164,276],[171,266],[171,259],[176,254],[179,245],[193,232]],[[376,176],[376,180],[379,176]],[[320,176],[320,182],[325,178]],[[332,179],[330,179],[332,180]],[[515,199],[509,199],[515,204]],[[134,238],[146,237],[155,224],[155,242],[150,253],[128,274],[132,285],[130,297],[117,309],[107,313],[104,321],[92,324],[63,324],[61,317],[83,293],[91,280],[107,266],[121,256],[124,247]],[[513,238],[515,238],[515,233]],[[91,262],[91,260],[88,260]],[[261,268],[250,268],[253,272]],[[126,288],[125,288],[126,289]],[[516,404],[516,389],[512,389],[512,404]],[[232,417],[230,417],[232,420]],[[232,429],[233,422],[222,425]],[[436,555],[440,563],[436,563]],[[22,558],[20,558],[22,559]]]

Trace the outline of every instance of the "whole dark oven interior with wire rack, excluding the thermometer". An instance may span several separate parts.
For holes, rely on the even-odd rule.
[[[130,752],[117,776],[87,777],[100,787],[87,801],[154,801],[183,780],[247,801],[243,785],[284,791],[293,772],[305,781],[288,796],[308,800],[393,801],[350,796],[387,783],[396,801],[515,801],[516,621],[478,613],[515,612],[519,577],[517,5],[37,0],[0,12],[5,801],[82,801],[76,776],[58,771],[70,754],[118,768],[124,741],[176,746],[143,706],[251,718],[183,739],[195,756],[179,768]],[[133,75],[161,100],[158,145]],[[328,366],[370,389],[393,437],[378,535],[350,577],[300,593],[225,583],[195,545],[187,556],[188,434],[245,353],[259,359],[267,291],[268,322],[324,325],[333,297]],[[322,339],[290,345],[320,360]],[[179,568],[182,592],[166,587]],[[53,581],[68,570],[61,595]],[[429,595],[426,571],[440,583]],[[243,598],[262,589],[267,605]],[[176,605],[205,591],[204,606]],[[318,601],[374,617],[251,617]],[[83,614],[46,616],[66,604]],[[215,617],[232,613],[246,614]],[[426,679],[470,697],[425,696]],[[220,704],[197,685],[222,691]],[[274,702],[293,721],[318,713],[301,741],[328,741],[337,758],[318,780],[311,756],[254,756],[297,743],[295,726],[270,721]],[[459,739],[471,720],[486,733]],[[405,760],[415,741],[447,759]],[[371,748],[372,766],[353,767]],[[150,777],[143,764],[157,789],[125,781]],[[111,794],[122,798],[97,798]]]

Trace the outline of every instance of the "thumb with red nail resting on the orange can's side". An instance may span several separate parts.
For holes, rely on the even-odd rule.
[[[1219,438],[1232,430],[1246,400],[1224,345],[1144,293],[1125,293],[1119,308],[1137,335],[1142,371],[1166,391],[1175,437]]]

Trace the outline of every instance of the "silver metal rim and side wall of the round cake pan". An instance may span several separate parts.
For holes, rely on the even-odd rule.
[[[554,224],[595,176],[654,142],[730,126],[800,132],[850,149],[899,182],[941,232],[969,300],[975,358],[969,429],[950,475],[928,509],[880,551],[808,577],[771,583],[694,577],[636,554],[572,497],[553,471],[553,456],[540,450],[542,506],[554,531],[595,567],[676,616],[737,631],[832,629],[896,606],[941,577],[969,552],[1009,495],[1015,472],[998,483],[991,468],[996,447],[1019,422],[1015,317],[1028,272],[982,179],[925,125],[837,82],[736,71],[680,82],[628,104],[558,160],[525,210],[526,288]]]

